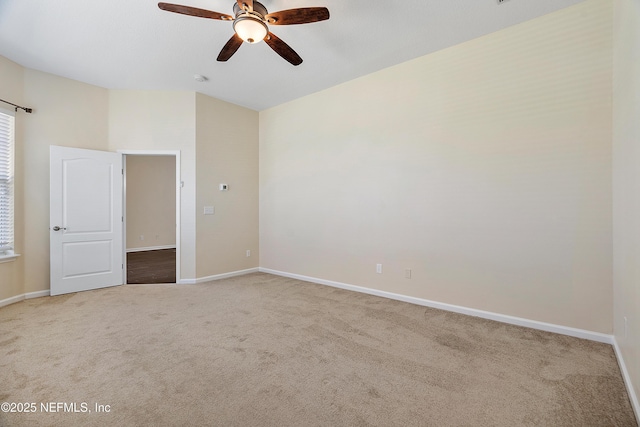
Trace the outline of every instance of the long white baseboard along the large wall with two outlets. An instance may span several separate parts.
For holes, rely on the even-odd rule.
[[[602,334],[599,332],[587,331],[584,329],[576,329],[568,326],[554,325],[552,323],[539,322],[537,320],[524,319],[521,317],[508,316],[505,314],[493,313],[490,311],[477,310],[475,308],[462,307],[459,305],[446,304],[437,301],[430,301],[422,298],[411,297],[393,292],[380,291],[377,289],[365,288],[362,286],[349,285],[346,283],[334,282],[331,280],[318,279],[316,277],[302,276],[300,274],[287,273],[284,271],[271,270],[269,268],[260,268],[263,273],[275,274],[277,276],[290,277],[292,279],[304,280],[306,282],[317,283],[320,285],[332,286],[334,288],[346,289],[349,291],[362,292],[369,295],[404,301],[411,304],[421,305],[425,307],[437,308],[454,313],[466,314],[468,316],[481,317],[483,319],[495,320],[497,322],[508,323],[510,325],[524,326],[527,328],[538,329],[541,331],[554,332],[562,335],[569,335],[576,338],[583,338],[591,341],[602,342],[605,344],[613,344],[613,336]]]

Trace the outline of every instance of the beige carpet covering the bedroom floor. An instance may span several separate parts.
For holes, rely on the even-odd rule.
[[[2,426],[636,425],[609,345],[261,273],[0,308],[0,402],[37,406]]]

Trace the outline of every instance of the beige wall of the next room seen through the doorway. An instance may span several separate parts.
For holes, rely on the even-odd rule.
[[[126,164],[127,250],[175,246],[175,157],[131,155]]]

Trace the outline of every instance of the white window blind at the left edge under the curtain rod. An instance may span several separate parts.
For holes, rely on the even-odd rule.
[[[0,255],[13,250],[14,120],[0,111]]]

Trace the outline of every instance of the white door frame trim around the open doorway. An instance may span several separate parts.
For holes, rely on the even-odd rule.
[[[182,180],[180,173],[180,150],[118,150],[122,154],[123,168],[123,201],[122,201],[122,283],[127,284],[127,156],[174,156],[176,159],[176,284],[181,282],[180,277],[180,190]]]

